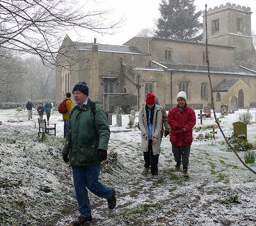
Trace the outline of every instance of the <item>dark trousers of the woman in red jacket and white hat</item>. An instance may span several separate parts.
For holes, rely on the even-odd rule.
[[[177,165],[180,165],[182,162],[183,169],[188,169],[188,163],[189,163],[189,153],[190,153],[190,147],[191,146],[172,146],[172,153],[175,159],[175,162],[177,162]]]

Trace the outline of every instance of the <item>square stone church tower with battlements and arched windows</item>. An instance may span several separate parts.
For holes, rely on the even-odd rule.
[[[207,11],[208,43],[236,47],[236,51],[252,51],[251,8],[226,3]],[[205,11],[203,16],[205,42]]]

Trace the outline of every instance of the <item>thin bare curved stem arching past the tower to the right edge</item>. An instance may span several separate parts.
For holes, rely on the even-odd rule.
[[[209,58],[208,58],[208,33],[207,33],[207,4],[205,4],[205,34],[206,34],[206,43],[205,43],[205,47],[206,47],[206,61],[207,61],[207,69],[208,69],[208,78],[209,78],[209,84],[210,84],[210,88],[211,88],[211,102],[212,102],[212,109],[213,109],[213,114],[214,114],[214,119],[215,122],[218,124],[218,128],[220,129],[221,134],[223,135],[225,141],[227,142],[227,145],[230,147],[230,149],[236,154],[237,158],[240,160],[241,163],[243,163],[244,167],[246,167],[248,170],[250,170],[251,172],[253,172],[253,174],[256,174],[256,172],[249,167],[246,163],[244,163],[244,161],[241,159],[241,157],[239,156],[239,154],[237,154],[237,152],[235,151],[235,149],[232,147],[232,145],[228,142],[227,137],[225,136],[223,130],[221,129],[220,126],[220,122],[217,119],[216,113],[215,113],[215,108],[214,108],[214,101],[213,101],[213,93],[212,93],[212,82],[211,82],[211,76],[210,76],[210,66],[209,66]]]

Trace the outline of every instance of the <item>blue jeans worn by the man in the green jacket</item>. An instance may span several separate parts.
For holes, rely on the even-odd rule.
[[[104,199],[111,199],[113,194],[112,189],[99,182],[100,163],[86,167],[73,166],[72,170],[80,215],[84,217],[91,216],[92,211],[88,199],[88,190],[86,188],[93,194]]]

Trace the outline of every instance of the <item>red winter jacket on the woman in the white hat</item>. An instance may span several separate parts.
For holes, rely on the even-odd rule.
[[[177,105],[168,112],[168,123],[171,127],[170,142],[175,146],[191,146],[193,141],[193,127],[196,124],[196,114],[186,105],[180,112]]]

